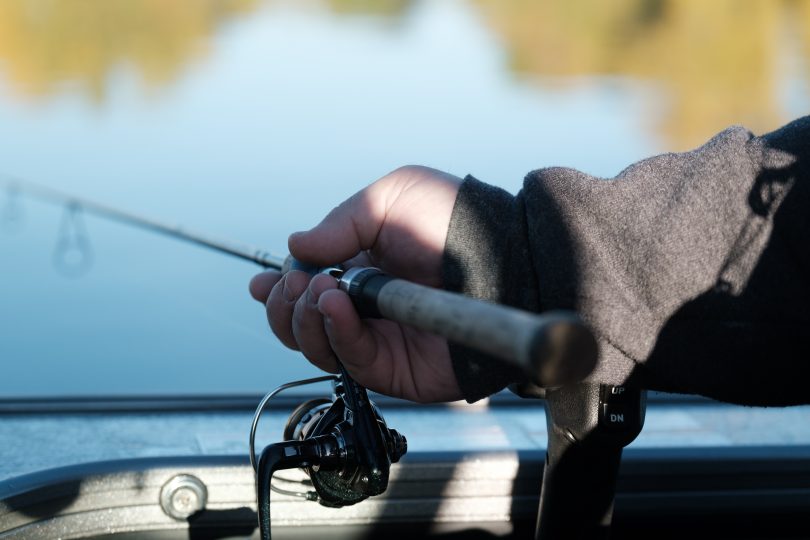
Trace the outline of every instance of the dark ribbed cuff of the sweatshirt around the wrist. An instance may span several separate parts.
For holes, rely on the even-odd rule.
[[[521,197],[467,176],[461,185],[444,249],[444,288],[489,302],[539,311]],[[472,403],[524,380],[495,357],[450,343],[453,370]]]

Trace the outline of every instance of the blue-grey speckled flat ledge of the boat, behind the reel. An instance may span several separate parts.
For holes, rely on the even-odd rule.
[[[275,442],[288,412],[259,425],[257,446]],[[545,448],[542,406],[383,410],[408,438],[409,455]],[[243,455],[250,412],[38,414],[0,417],[0,481],[44,469],[112,459]],[[723,404],[652,404],[631,448],[810,444],[810,407],[751,409]],[[408,455],[404,459],[408,459]]]

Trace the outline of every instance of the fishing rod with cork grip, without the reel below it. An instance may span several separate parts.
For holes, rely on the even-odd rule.
[[[572,312],[534,314],[419,285],[377,268],[340,265],[316,268],[294,258],[215,239],[102,204],[30,180],[14,178],[6,188],[44,201],[82,209],[98,217],[190,242],[251,261],[266,269],[327,273],[364,318],[385,318],[439,334],[450,341],[517,365],[541,387],[584,379],[595,367],[597,344]]]

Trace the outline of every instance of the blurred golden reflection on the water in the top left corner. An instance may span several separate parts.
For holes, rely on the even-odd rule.
[[[170,82],[205,52],[206,38],[255,0],[3,0],[0,67],[15,88],[40,96],[79,83],[94,100],[122,65],[147,85]]]

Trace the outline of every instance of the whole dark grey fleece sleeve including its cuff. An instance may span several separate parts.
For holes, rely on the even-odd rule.
[[[445,249],[450,290],[574,309],[593,382],[752,405],[810,403],[810,117],[612,179],[540,169],[517,197],[468,177]],[[521,375],[451,346],[465,397]]]

